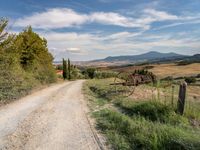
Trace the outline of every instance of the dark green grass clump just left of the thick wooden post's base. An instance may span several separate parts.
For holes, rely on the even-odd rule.
[[[177,115],[170,105],[156,101],[133,102],[121,100],[116,105],[128,116],[140,116],[149,121],[170,124],[189,124],[188,119]]]

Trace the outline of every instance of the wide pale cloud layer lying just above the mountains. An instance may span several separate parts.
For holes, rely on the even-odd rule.
[[[91,60],[108,55],[133,55],[149,50],[195,50],[200,47],[199,41],[192,37],[184,38],[173,34],[155,35],[140,32],[113,34],[50,32],[40,34],[48,40],[48,47],[57,60],[62,57],[70,57],[73,60]]]

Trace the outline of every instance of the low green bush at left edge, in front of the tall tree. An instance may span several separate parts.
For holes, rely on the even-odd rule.
[[[38,84],[33,75],[26,73],[14,57],[7,54],[3,56],[0,61],[0,101],[6,102],[26,95]]]

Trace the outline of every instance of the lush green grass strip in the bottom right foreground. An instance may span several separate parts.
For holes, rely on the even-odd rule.
[[[95,114],[97,127],[114,149],[193,150],[200,147],[199,130],[151,122],[140,116],[103,110]]]

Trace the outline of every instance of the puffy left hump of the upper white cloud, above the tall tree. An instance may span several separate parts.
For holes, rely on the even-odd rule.
[[[18,19],[15,26],[25,27],[31,25],[34,28],[54,29],[81,25],[87,20],[87,15],[77,13],[71,9],[54,8]]]

